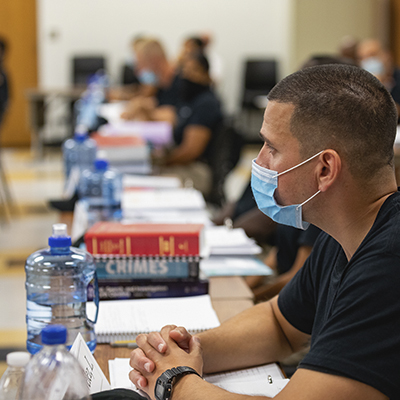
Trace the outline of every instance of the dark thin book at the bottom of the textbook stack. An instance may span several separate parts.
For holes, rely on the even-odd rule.
[[[100,300],[151,299],[186,297],[208,294],[207,278],[200,279],[99,279]],[[88,288],[88,299],[93,300],[94,290]]]

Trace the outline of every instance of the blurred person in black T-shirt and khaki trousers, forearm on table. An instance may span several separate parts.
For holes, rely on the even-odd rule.
[[[179,101],[171,119],[173,148],[154,155],[161,174],[191,180],[193,187],[208,195],[212,171],[208,158],[222,126],[221,103],[210,87],[209,64],[202,53],[192,53],[184,61]]]

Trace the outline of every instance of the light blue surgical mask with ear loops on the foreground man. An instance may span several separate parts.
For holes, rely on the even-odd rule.
[[[315,154],[314,156],[308,158],[300,164],[295,165],[292,168],[287,169],[278,174],[276,171],[272,171],[267,168],[263,168],[253,160],[252,164],[252,174],[251,174],[251,188],[253,190],[253,195],[256,200],[258,208],[273,221],[293,226],[298,229],[307,229],[310,225],[308,222],[303,221],[302,207],[312,198],[314,198],[317,193],[313,194],[309,199],[301,204],[293,204],[289,206],[280,206],[274,197],[276,188],[278,187],[278,177],[292,171],[295,168],[311,161],[313,158],[319,156],[324,150]]]

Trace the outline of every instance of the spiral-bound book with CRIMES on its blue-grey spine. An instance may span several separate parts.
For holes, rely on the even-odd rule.
[[[98,279],[198,278],[198,257],[95,257]]]

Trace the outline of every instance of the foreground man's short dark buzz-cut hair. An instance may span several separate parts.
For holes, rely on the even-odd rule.
[[[294,105],[290,129],[303,157],[336,150],[357,177],[393,166],[396,106],[369,72],[350,65],[305,68],[280,81],[268,98]]]

